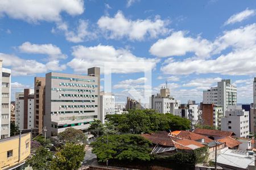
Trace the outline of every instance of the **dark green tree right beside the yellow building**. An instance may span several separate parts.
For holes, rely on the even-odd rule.
[[[52,152],[48,148],[39,146],[35,154],[30,159],[27,159],[26,163],[33,169],[49,169],[50,162],[52,160]]]

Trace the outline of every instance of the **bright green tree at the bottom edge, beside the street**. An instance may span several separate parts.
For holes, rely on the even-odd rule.
[[[53,170],[73,170],[81,167],[84,160],[84,145],[66,143],[63,148],[55,154],[52,159],[51,169]]]

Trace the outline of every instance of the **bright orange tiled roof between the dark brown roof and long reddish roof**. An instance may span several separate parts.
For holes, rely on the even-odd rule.
[[[171,135],[174,135],[178,138],[190,139],[193,141],[198,141],[200,139],[204,139],[205,143],[209,143],[209,142],[213,141],[212,139],[205,137],[204,135],[193,133],[191,131],[185,131],[185,130],[172,131]]]

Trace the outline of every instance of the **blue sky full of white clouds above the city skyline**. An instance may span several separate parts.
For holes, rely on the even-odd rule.
[[[101,90],[111,75],[118,102],[133,91],[147,99],[167,81],[181,103],[200,103],[231,79],[238,103],[251,103],[255,14],[253,0],[0,0],[0,59],[12,70],[13,100],[35,76],[97,66]]]

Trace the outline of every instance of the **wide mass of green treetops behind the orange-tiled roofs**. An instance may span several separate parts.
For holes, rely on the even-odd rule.
[[[156,113],[152,109],[130,110],[126,114],[108,114],[106,120],[121,133],[149,133],[162,130],[189,130],[191,122],[173,114]]]

